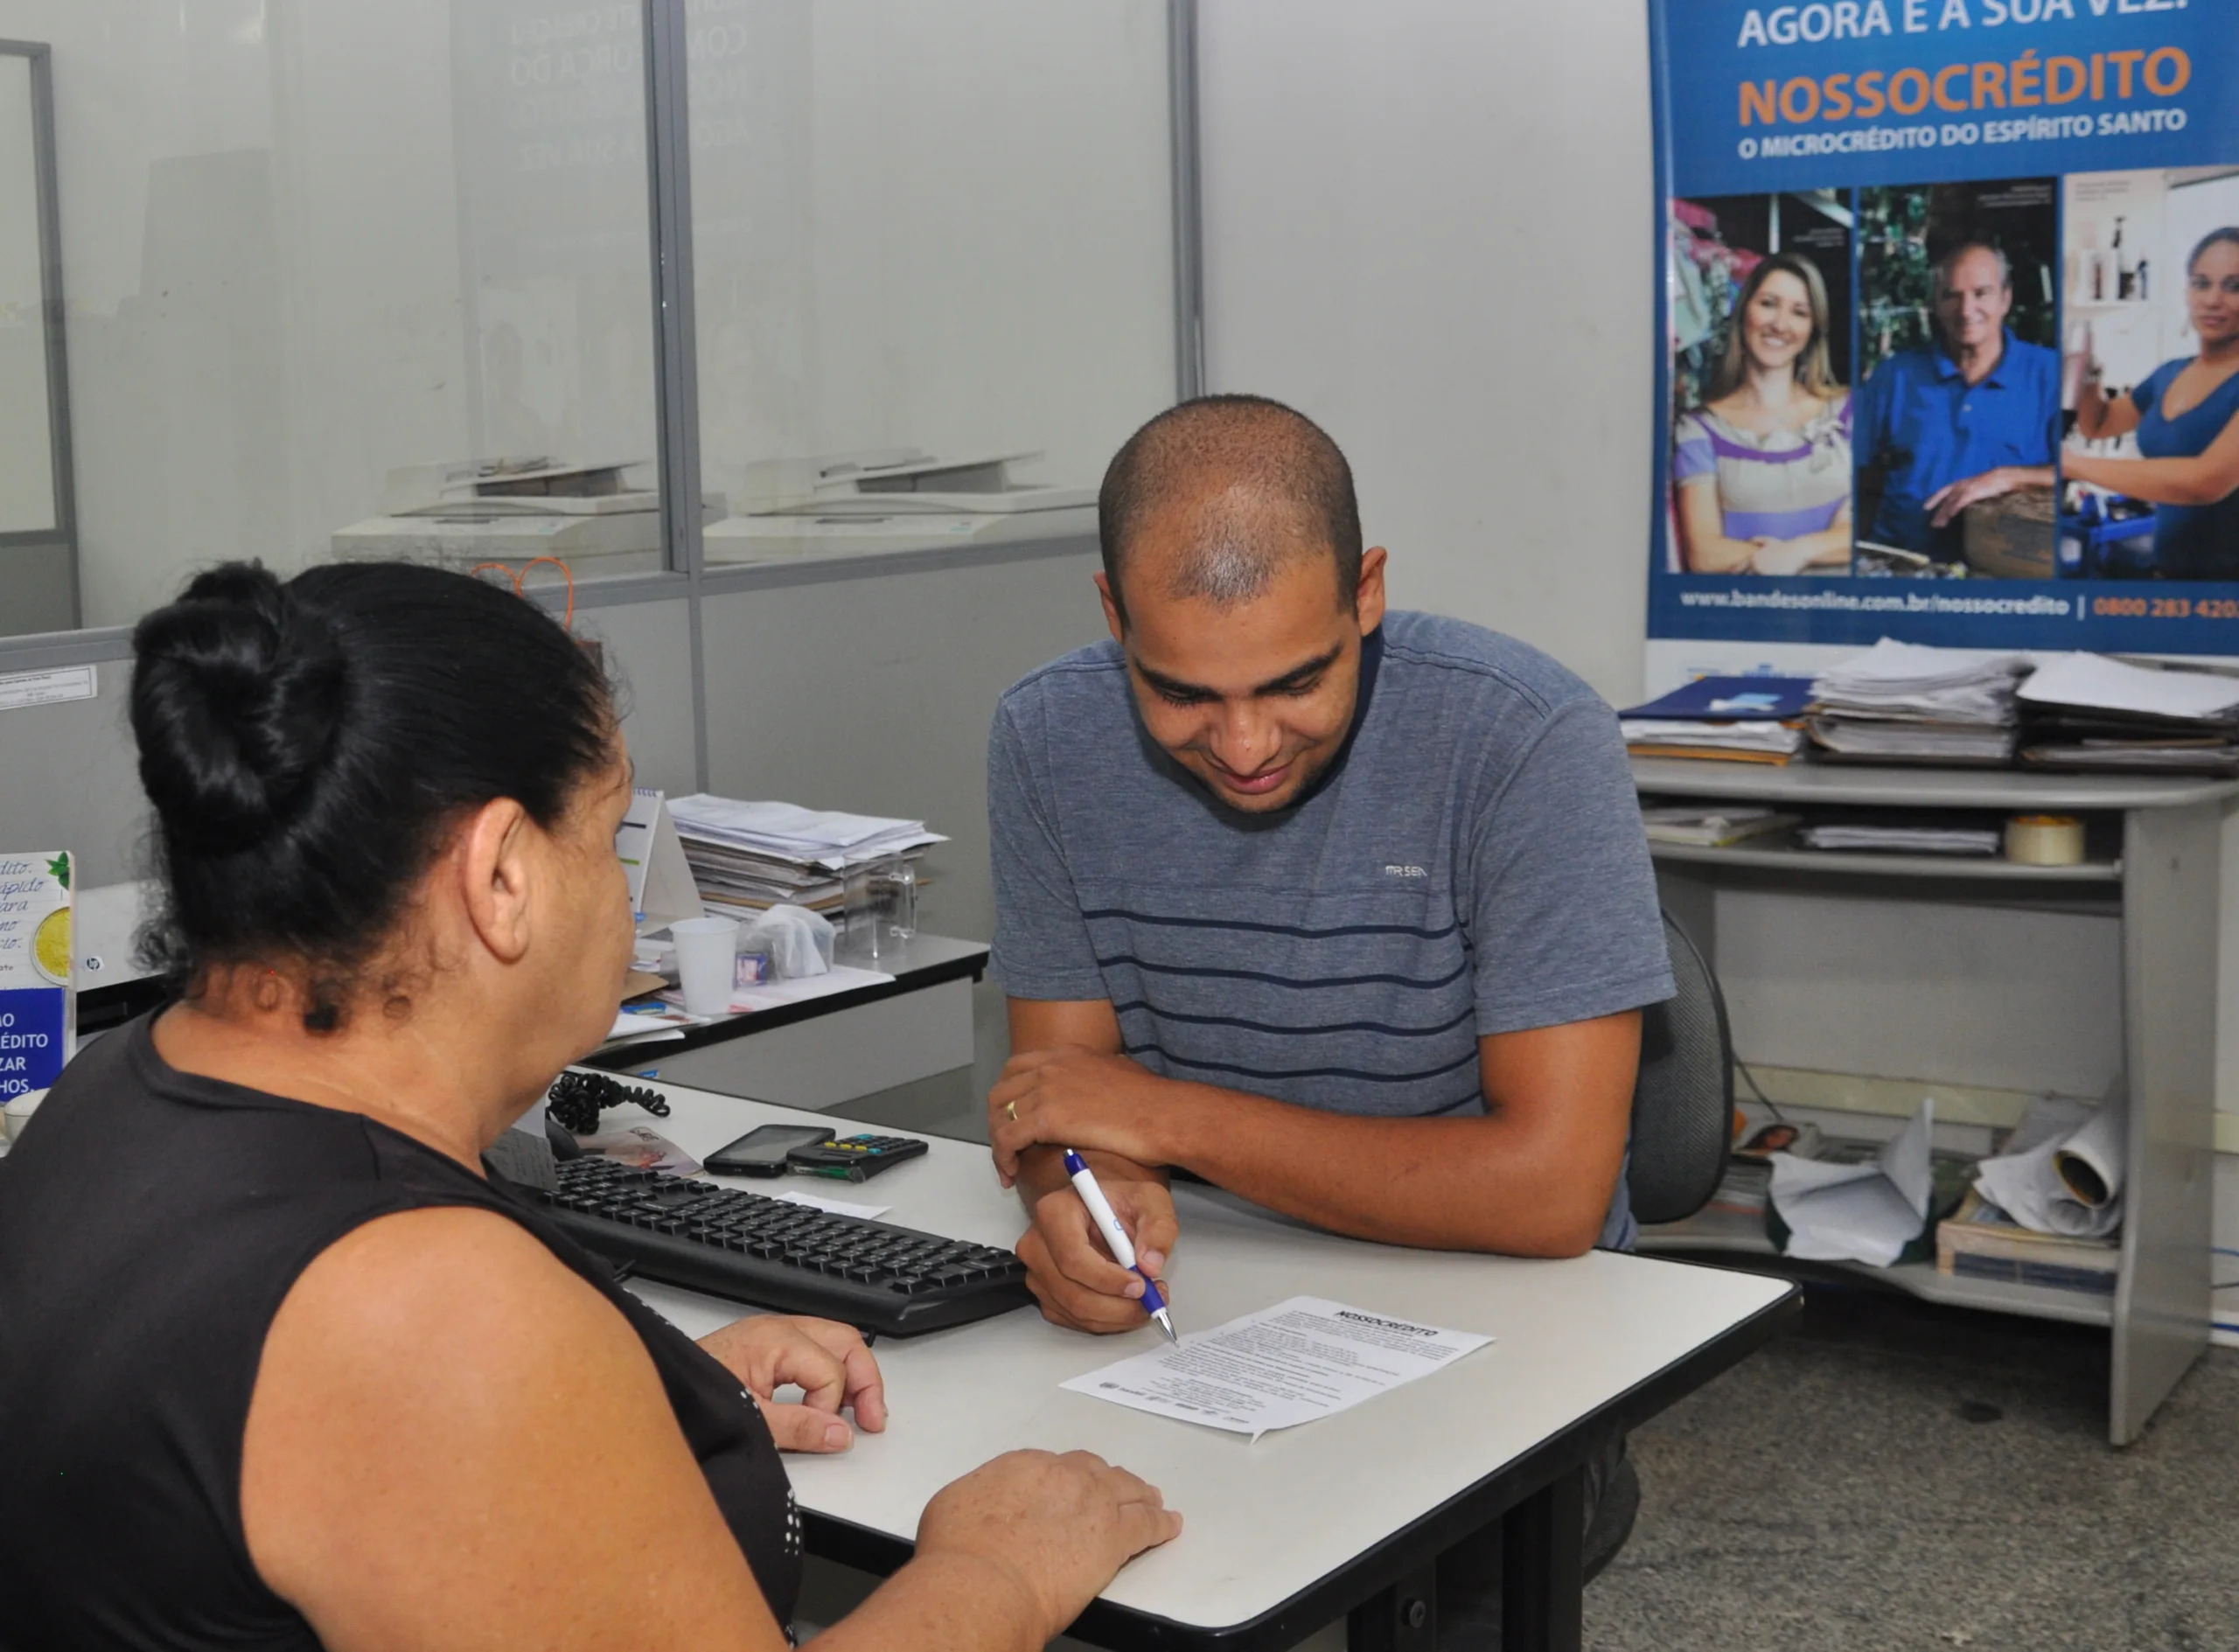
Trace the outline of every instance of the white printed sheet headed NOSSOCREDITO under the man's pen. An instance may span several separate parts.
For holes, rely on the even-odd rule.
[[[1184,1334],[1180,1348],[1162,1345],[1075,1377],[1064,1388],[1258,1439],[1270,1428],[1294,1428],[1428,1377],[1489,1341],[1321,1296],[1292,1296],[1216,1330]]]

